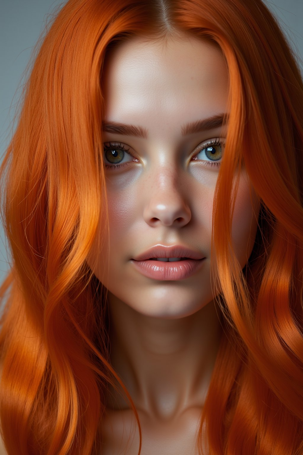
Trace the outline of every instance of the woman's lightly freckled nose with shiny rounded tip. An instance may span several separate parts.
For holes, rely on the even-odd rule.
[[[157,176],[146,179],[144,221],[151,227],[158,225],[183,227],[191,219],[191,210],[183,194],[180,177],[172,169],[158,170]],[[152,181],[152,184],[151,184]]]

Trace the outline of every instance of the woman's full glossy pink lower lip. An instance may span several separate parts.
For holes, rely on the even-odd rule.
[[[131,262],[147,278],[161,281],[183,280],[193,275],[204,263],[204,259],[184,259],[184,261],[164,262],[147,259]]]

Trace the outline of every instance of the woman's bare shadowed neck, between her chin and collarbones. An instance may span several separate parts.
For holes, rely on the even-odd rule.
[[[218,315],[212,301],[180,319],[150,317],[109,293],[110,361],[138,410],[168,420],[203,407],[221,337]],[[111,408],[129,402],[116,396]]]

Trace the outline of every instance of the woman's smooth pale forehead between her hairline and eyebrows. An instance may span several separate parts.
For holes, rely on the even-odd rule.
[[[108,121],[131,116],[183,124],[184,117],[195,121],[225,111],[228,70],[208,41],[188,37],[159,45],[136,37],[111,50],[102,88]]]

